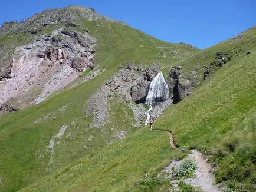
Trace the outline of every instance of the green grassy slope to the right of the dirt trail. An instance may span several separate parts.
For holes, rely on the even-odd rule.
[[[219,69],[157,123],[173,131],[180,147],[209,155],[216,180],[229,180],[235,190],[253,190],[256,178],[255,51]]]

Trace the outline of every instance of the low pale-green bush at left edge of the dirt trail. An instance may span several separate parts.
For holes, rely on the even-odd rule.
[[[196,163],[192,160],[184,160],[182,164],[173,170],[173,176],[176,178],[192,177],[196,170]]]

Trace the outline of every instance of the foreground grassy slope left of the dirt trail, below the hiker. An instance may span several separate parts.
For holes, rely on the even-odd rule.
[[[136,191],[139,179],[157,173],[178,154],[164,131],[138,130],[24,191]]]

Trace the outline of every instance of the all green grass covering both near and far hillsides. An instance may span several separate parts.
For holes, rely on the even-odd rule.
[[[132,127],[134,120],[126,118],[127,114],[133,117],[130,108],[125,102],[113,105],[114,101],[109,105],[109,119],[114,121],[101,129],[90,127],[87,101],[119,65],[157,62],[165,75],[171,67],[183,65],[186,75],[192,70],[202,75],[202,65],[209,66],[217,51],[232,52],[234,57],[224,67],[215,68],[191,96],[172,105],[156,120],[155,128],[172,130],[180,147],[197,148],[208,155],[216,166],[217,182],[227,181],[234,190],[254,189],[255,28],[236,41],[229,39],[198,51],[191,45],[162,42],[122,22],[80,18],[77,24],[73,29],[87,30],[98,39],[97,65],[107,70],[41,104],[0,117],[0,191],[25,186],[27,191],[170,188],[164,178],[154,177],[172,158],[185,154],[170,148],[168,134]],[[62,27],[50,25],[40,35]],[[0,46],[10,35],[0,37]],[[23,37],[19,32],[16,35]],[[34,37],[19,43],[29,38]],[[172,51],[175,54],[169,54]],[[117,141],[113,135],[120,130],[130,135]],[[149,180],[143,184],[140,180],[145,177]]]

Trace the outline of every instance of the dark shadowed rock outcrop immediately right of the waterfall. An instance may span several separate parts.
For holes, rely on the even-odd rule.
[[[170,69],[169,77],[169,88],[173,93],[173,104],[182,101],[192,93],[191,82],[182,75],[182,66]]]

